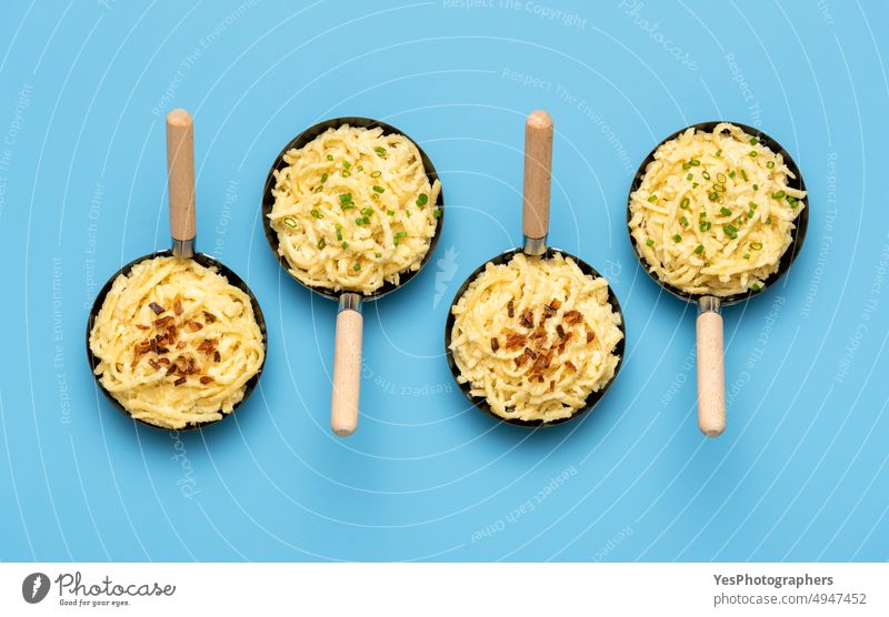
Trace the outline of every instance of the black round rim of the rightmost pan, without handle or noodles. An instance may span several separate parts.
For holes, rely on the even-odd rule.
[[[707,120],[703,122],[696,122],[693,124],[685,127],[683,129],[675,131],[667,138],[659,141],[655,145],[655,148],[651,149],[651,152],[649,152],[648,155],[646,155],[645,159],[642,159],[641,164],[633,174],[632,180],[630,181],[630,190],[627,192],[627,225],[626,225],[627,234],[630,239],[630,245],[632,246],[633,254],[636,255],[639,265],[642,266],[642,270],[646,272],[646,274],[648,274],[649,279],[651,279],[659,287],[667,291],[671,295],[678,297],[679,300],[683,300],[686,302],[690,302],[693,304],[697,304],[701,297],[717,297],[719,299],[721,305],[737,304],[740,302],[746,302],[751,297],[759,295],[766,290],[775,286],[775,284],[785,275],[785,273],[788,270],[790,270],[790,266],[793,265],[797,255],[800,253],[800,251],[802,251],[802,245],[803,242],[806,241],[806,234],[809,226],[809,210],[811,209],[811,201],[809,200],[809,195],[807,194],[806,208],[802,209],[802,211],[799,213],[799,216],[797,216],[796,219],[796,225],[791,233],[790,245],[781,254],[781,257],[778,262],[778,270],[775,271],[772,274],[770,274],[769,277],[762,282],[762,285],[758,291],[748,290],[746,293],[732,294],[729,296],[717,296],[717,295],[708,296],[707,294],[692,294],[685,292],[679,287],[670,285],[669,283],[665,283],[663,281],[660,280],[660,277],[658,277],[658,275],[655,272],[652,272],[652,267],[639,252],[639,246],[637,245],[636,239],[632,236],[632,231],[630,229],[630,219],[632,218],[632,213],[630,211],[630,203],[632,202],[631,195],[633,192],[638,190],[639,184],[641,183],[642,178],[645,176],[646,168],[648,168],[648,165],[655,160],[655,153],[661,145],[663,145],[670,140],[678,138],[689,129],[712,132],[712,130],[718,124],[723,124],[723,123],[733,124],[735,127],[738,127],[745,133],[756,136],[760,142],[766,144],[772,152],[783,156],[785,164],[797,176],[796,180],[791,181],[793,183],[792,184],[793,188],[798,188],[802,191],[806,191],[806,182],[802,179],[802,172],[800,171],[799,165],[797,165],[797,162],[793,160],[793,158],[790,155],[787,149],[785,149],[785,146],[781,145],[781,143],[778,140],[776,140],[765,131],[761,131],[760,129],[750,127],[742,122],[735,122],[731,120]]]

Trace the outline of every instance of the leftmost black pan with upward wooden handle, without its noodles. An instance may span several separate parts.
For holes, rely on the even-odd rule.
[[[132,267],[147,260],[153,260],[154,257],[168,257],[174,255],[180,259],[191,259],[198,262],[199,264],[206,267],[216,267],[220,274],[222,274],[228,282],[244,292],[248,297],[250,299],[250,304],[253,307],[253,315],[257,320],[257,324],[259,325],[260,332],[262,332],[262,346],[268,351],[268,336],[266,334],[266,320],[262,316],[262,310],[259,307],[259,302],[257,302],[253,292],[250,291],[250,287],[247,286],[240,276],[238,276],[233,271],[231,271],[228,266],[223,263],[214,260],[213,257],[204,254],[198,253],[194,251],[194,240],[197,236],[196,233],[196,224],[194,224],[194,142],[193,142],[193,125],[191,115],[181,109],[173,110],[169,114],[167,114],[167,164],[168,164],[168,175],[169,175],[169,191],[170,191],[170,234],[172,236],[172,249],[168,249],[164,251],[158,251],[156,253],[151,253],[149,255],[141,256],[136,259],[118,270],[108,282],[102,286],[99,291],[99,295],[96,297],[96,302],[92,303],[92,308],[90,310],[89,318],[87,320],[87,361],[90,364],[91,370],[96,370],[96,366],[99,364],[99,358],[97,358],[92,351],[90,350],[90,333],[92,332],[92,326],[96,322],[96,316],[99,314],[99,311],[104,304],[106,296],[108,292],[111,290],[111,285],[114,283],[114,280],[120,275],[124,274],[128,275]],[[168,307],[169,308],[169,307]],[[266,354],[268,355],[268,354]],[[246,384],[246,390],[243,393],[243,398],[239,403],[234,405],[232,409],[232,414],[238,409],[238,407],[247,401],[247,397],[250,396],[250,393],[256,387],[257,383],[259,382],[259,377],[262,374],[262,368],[266,365],[266,356],[262,358],[262,364],[257,371],[257,374],[253,375],[250,380],[248,380]],[[91,371],[92,372],[92,371]],[[108,392],[102,383],[99,381],[98,375],[93,373],[93,377],[96,378],[96,383],[98,384],[99,388],[104,393],[108,399],[111,402],[114,407],[127,414],[129,417],[132,417],[130,413],[123,408],[114,396]],[[227,417],[231,414],[222,415],[222,418]],[[220,418],[220,419],[222,419]],[[136,418],[133,418],[136,419]],[[151,426],[152,428],[162,428],[160,426],[156,426],[151,423],[136,419],[146,426]],[[216,424],[219,419],[201,422],[201,423],[191,423],[188,424],[184,428],[180,428],[179,431],[191,431],[194,428],[203,428],[204,426],[209,426],[210,424]]]

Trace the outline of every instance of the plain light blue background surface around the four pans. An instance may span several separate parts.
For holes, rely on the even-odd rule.
[[[0,558],[889,558],[886,4],[456,4],[4,2]],[[183,435],[111,407],[83,341],[108,276],[168,246],[172,107],[196,117],[200,246],[270,335],[249,402]],[[442,330],[520,240],[537,108],[557,127],[550,239],[610,279],[628,345],[592,413],[529,432],[468,406]],[[412,135],[449,210],[429,266],[366,307],[361,424],[339,439],[334,304],[279,267],[259,202],[284,143],[350,114]],[[781,283],[725,312],[729,427],[707,441],[693,307],[641,271],[625,208],[651,148],[712,119],[779,140],[811,216]]]

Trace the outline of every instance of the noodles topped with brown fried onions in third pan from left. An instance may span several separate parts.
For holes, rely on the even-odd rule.
[[[452,313],[458,381],[503,418],[569,417],[615,375],[623,333],[608,281],[570,257],[488,263]]]

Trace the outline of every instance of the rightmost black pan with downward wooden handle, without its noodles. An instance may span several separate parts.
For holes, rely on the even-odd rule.
[[[775,272],[775,274],[763,281],[763,284],[760,285],[760,287],[756,291],[751,289],[747,293],[717,297],[706,294],[691,294],[669,285],[658,279],[658,275],[652,272],[651,267],[642,257],[639,246],[637,246],[636,240],[632,236],[629,226],[630,219],[632,218],[630,212],[630,203],[632,200],[629,195],[639,189],[642,178],[646,174],[646,168],[655,160],[655,152],[657,152],[658,148],[670,140],[678,138],[690,128],[700,131],[712,132],[717,124],[720,124],[721,122],[722,121],[711,121],[692,124],[691,127],[686,127],[685,129],[675,132],[661,141],[655,146],[649,155],[646,156],[646,159],[642,161],[642,164],[639,165],[639,170],[633,176],[632,184],[630,185],[630,192],[627,196],[627,231],[630,235],[630,243],[632,244],[639,263],[642,264],[645,271],[658,285],[670,292],[676,297],[685,300],[686,302],[696,303],[698,305],[698,426],[708,437],[717,437],[721,435],[722,431],[726,428],[726,372],[722,353],[721,307],[728,304],[737,304],[738,302],[743,302],[756,295],[759,295],[768,287],[775,285],[775,283],[777,283],[778,280],[783,276],[785,272],[790,269],[790,265],[793,263],[793,260],[797,257],[797,254],[802,247],[802,242],[806,240],[806,229],[809,224],[810,208],[810,203],[807,200],[806,208],[802,210],[802,212],[800,212],[799,216],[797,216],[796,229],[792,231],[792,241],[785,254],[781,255],[778,270]],[[732,124],[742,129],[747,134],[757,138],[762,145],[776,154],[780,154],[783,158],[787,168],[793,173],[793,175],[797,176],[795,180],[789,180],[788,185],[793,189],[799,189],[800,191],[806,190],[806,184],[802,181],[802,174],[800,173],[797,163],[793,162],[793,159],[790,156],[787,150],[781,146],[780,143],[775,141],[762,131],[753,129],[752,127],[748,127],[739,122],[732,122]]]

